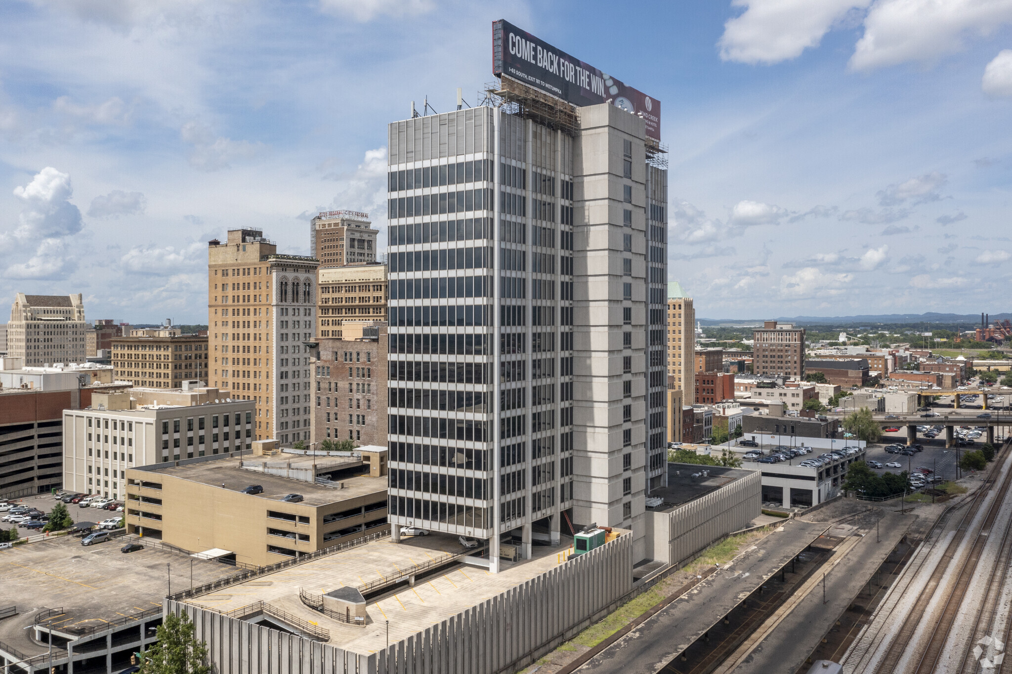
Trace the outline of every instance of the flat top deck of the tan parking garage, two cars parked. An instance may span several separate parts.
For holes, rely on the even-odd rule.
[[[287,454],[285,454],[287,457]],[[274,458],[275,460],[269,460]],[[292,468],[294,468],[294,456],[292,456]],[[317,458],[321,462],[337,464],[336,456],[315,456],[302,458]],[[293,478],[282,478],[254,471],[252,469],[240,468],[242,462],[256,465],[259,467],[263,461],[268,464],[283,462],[277,461],[276,457],[261,457],[245,454],[244,456],[231,456],[227,458],[217,458],[206,461],[195,461],[183,466],[173,466],[170,464],[155,464],[153,467],[146,467],[145,473],[149,480],[157,480],[159,475],[167,475],[181,480],[189,480],[200,484],[228,489],[239,492],[250,485],[260,485],[263,493],[257,494],[255,498],[279,501],[287,494],[302,494],[306,505],[320,506],[338,501],[353,499],[366,494],[387,491],[387,478],[371,478],[369,476],[356,476],[341,480],[344,489],[334,489],[324,487],[312,482],[296,480]],[[285,461],[287,458],[285,458]],[[309,461],[312,464],[312,461]],[[352,464],[349,464],[351,466]]]

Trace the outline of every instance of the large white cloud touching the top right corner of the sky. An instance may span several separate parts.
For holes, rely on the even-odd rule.
[[[962,50],[969,35],[1012,22],[1012,0],[877,0],[864,19],[850,67],[872,70],[932,63]]]

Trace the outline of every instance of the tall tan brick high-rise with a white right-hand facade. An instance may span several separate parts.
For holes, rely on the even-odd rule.
[[[256,403],[255,439],[310,441],[320,261],[279,255],[259,230],[207,247],[208,384]]]

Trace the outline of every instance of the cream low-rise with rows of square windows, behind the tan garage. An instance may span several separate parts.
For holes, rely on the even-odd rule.
[[[90,406],[64,411],[64,488],[119,499],[132,468],[247,450],[253,403],[220,395],[131,389],[96,393]]]

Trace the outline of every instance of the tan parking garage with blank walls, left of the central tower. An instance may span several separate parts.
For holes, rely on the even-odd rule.
[[[262,567],[390,529],[386,448],[339,456],[276,446],[128,469],[129,531]],[[262,492],[244,493],[251,485]]]

